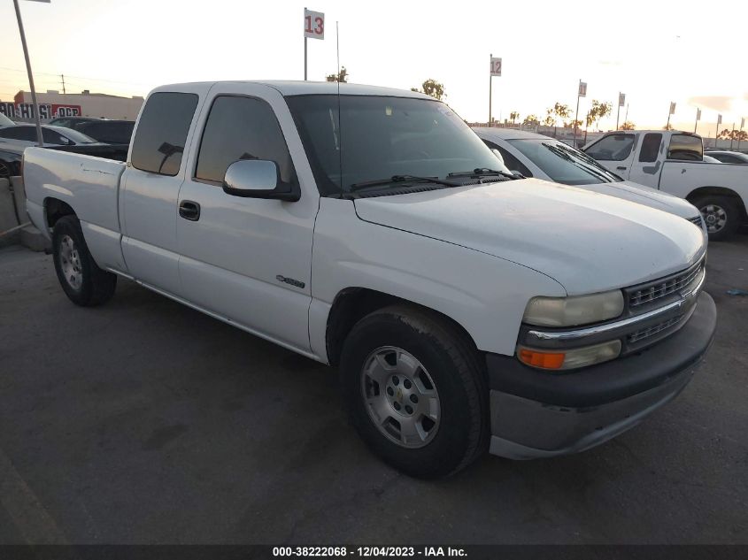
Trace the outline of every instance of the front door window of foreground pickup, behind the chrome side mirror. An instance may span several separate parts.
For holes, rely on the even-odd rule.
[[[222,183],[228,166],[240,159],[274,161],[281,182],[296,182],[289,149],[270,105],[253,97],[216,97],[205,123],[195,177]]]

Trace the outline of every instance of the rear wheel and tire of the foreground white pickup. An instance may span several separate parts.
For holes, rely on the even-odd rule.
[[[117,275],[96,265],[75,216],[64,216],[55,224],[52,255],[60,286],[76,305],[100,305],[114,295]]]

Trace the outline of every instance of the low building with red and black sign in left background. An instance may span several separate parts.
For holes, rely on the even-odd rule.
[[[62,94],[48,89],[46,93],[37,92],[36,100],[42,121],[73,116],[135,120],[143,105],[142,96],[110,96],[90,93],[88,89],[80,94]],[[31,93],[19,91],[12,102],[0,102],[0,112],[16,121],[32,121],[34,108]]]

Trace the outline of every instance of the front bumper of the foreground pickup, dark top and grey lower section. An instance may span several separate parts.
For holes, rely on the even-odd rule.
[[[605,364],[551,373],[488,354],[490,452],[513,459],[566,455],[636,426],[688,384],[716,324],[714,301],[703,292],[677,333]]]

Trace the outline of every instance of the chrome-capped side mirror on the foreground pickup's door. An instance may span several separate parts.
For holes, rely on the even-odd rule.
[[[279,180],[278,165],[264,159],[240,159],[228,166],[223,179],[228,195],[297,201],[298,191]]]

